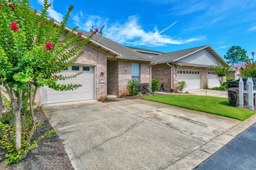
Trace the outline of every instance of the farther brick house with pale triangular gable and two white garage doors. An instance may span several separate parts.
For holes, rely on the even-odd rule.
[[[218,77],[210,70],[210,66],[217,62],[228,65],[210,45],[164,53],[152,58],[156,64],[152,66],[151,77],[159,79],[165,91],[172,91],[178,81],[187,83],[185,90],[218,87]]]

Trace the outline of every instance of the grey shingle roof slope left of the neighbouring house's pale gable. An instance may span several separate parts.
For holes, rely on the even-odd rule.
[[[171,53],[164,53],[157,56],[152,57],[153,60],[156,60],[157,62],[173,62],[174,60],[177,60],[180,57],[186,56],[190,53],[193,53],[199,49],[202,49],[206,46],[200,46],[195,48],[189,48],[189,49],[183,49],[176,52]]]

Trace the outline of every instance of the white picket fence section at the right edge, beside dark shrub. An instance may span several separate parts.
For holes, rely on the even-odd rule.
[[[242,78],[239,81],[239,107],[244,107],[244,105],[248,105],[250,110],[254,110],[254,105],[256,105],[253,102],[254,94],[256,93],[255,84],[252,81],[252,78],[248,78],[246,82],[246,86],[244,86],[244,82]],[[246,100],[244,97],[244,94],[246,94]]]

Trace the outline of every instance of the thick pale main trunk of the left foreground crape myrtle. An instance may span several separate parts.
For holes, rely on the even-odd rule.
[[[15,105],[15,104],[14,104]],[[18,89],[17,105],[15,105],[15,149],[17,152],[21,150],[21,118],[20,112],[22,107],[22,90]]]

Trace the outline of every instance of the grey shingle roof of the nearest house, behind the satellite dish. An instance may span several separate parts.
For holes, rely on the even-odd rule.
[[[85,32],[82,31],[83,35],[85,36],[89,36],[90,32]],[[94,35],[93,39],[98,41],[99,40],[99,35]],[[123,58],[123,59],[128,59],[128,60],[139,60],[139,61],[155,61],[154,59],[147,57],[139,52],[134,51],[131,48],[128,48],[126,46],[123,46],[119,43],[116,43],[113,40],[110,40],[106,37],[102,37],[102,39],[100,40],[100,42],[102,45],[105,45],[113,50],[115,50],[116,52],[118,52],[119,54],[121,54],[120,56],[117,56],[116,58]]]

